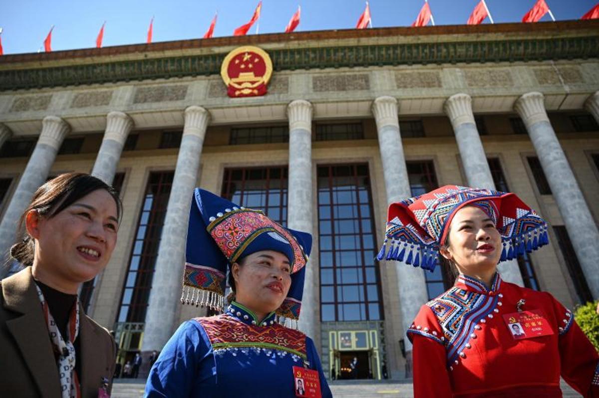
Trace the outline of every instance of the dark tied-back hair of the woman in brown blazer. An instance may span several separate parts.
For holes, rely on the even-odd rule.
[[[119,193],[113,187],[89,174],[66,173],[47,181],[46,184],[35,191],[31,203],[21,214],[19,230],[23,226],[29,211],[35,210],[41,217],[52,218],[75,201],[98,189],[110,193],[116,203],[117,217],[120,220],[122,205]],[[10,248],[10,256],[24,266],[29,266],[34,261],[34,240],[26,231],[23,235],[25,235],[23,241]]]

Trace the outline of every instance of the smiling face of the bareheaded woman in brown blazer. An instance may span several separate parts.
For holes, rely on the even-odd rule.
[[[35,239],[34,267],[54,281],[78,285],[110,260],[119,228],[117,205],[98,189],[49,218],[30,211],[26,226]]]

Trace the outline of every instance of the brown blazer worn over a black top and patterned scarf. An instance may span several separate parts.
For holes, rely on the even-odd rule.
[[[0,281],[2,397],[61,397],[58,367],[34,283],[31,267]],[[84,315],[83,308],[79,313],[81,395],[97,397],[102,377],[112,383],[116,348],[106,329]]]

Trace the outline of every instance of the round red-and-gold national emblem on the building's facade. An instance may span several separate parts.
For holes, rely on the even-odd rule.
[[[265,95],[273,74],[273,62],[262,48],[245,45],[227,54],[220,76],[231,98]]]

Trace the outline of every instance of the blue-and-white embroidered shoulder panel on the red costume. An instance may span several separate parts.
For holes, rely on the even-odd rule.
[[[465,347],[470,347],[468,341],[472,335],[476,336],[475,330],[480,329],[477,324],[492,317],[489,314],[497,306],[498,299],[498,296],[453,287],[426,303],[443,329],[448,366],[457,360]]]

